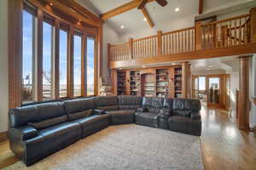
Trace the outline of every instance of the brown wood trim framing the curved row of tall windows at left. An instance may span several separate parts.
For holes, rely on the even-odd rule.
[[[59,1],[59,0],[58,0]],[[71,0],[72,1],[72,0]],[[34,101],[43,101],[43,22],[55,26],[55,60],[53,61],[54,99],[60,99],[60,30],[67,31],[67,98],[73,98],[73,36],[75,30],[82,35],[82,95],[87,96],[87,36],[96,37],[95,45],[95,94],[98,94],[98,78],[102,75],[102,21],[94,26],[85,23],[84,18],[74,18],[76,14],[64,13],[56,6],[50,8],[39,0],[9,0],[9,108],[22,105],[22,14],[27,9],[35,16],[34,25]],[[59,2],[58,2],[59,3]],[[63,3],[63,5],[66,5]],[[66,7],[65,7],[66,8]],[[62,11],[61,11],[62,10]],[[73,8],[75,10],[75,8]],[[79,10],[79,9],[77,9]],[[61,15],[63,14],[63,15]],[[79,23],[80,22],[80,23]],[[80,32],[79,32],[80,33]],[[64,99],[64,98],[63,98]]]

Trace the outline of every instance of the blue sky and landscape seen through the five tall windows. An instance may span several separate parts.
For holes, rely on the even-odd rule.
[[[26,90],[26,99],[23,94],[23,100],[26,102],[32,100],[32,78],[33,78],[33,24],[32,14],[23,10],[23,51],[22,51],[22,81],[23,91]],[[67,31],[60,30],[60,96],[67,96]],[[53,47],[53,26],[43,23],[43,96],[44,99],[52,98],[51,85],[53,83],[52,56]],[[86,40],[85,40],[86,41]],[[81,66],[82,66],[82,37],[74,36],[73,51],[73,84],[74,95],[81,95]],[[87,94],[94,94],[94,38],[87,39]]]

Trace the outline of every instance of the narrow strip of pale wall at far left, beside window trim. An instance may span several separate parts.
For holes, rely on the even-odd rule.
[[[8,130],[8,0],[0,1],[0,133]]]

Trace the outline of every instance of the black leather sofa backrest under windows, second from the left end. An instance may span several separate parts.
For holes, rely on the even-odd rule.
[[[84,116],[90,116],[96,109],[94,98],[90,99],[69,99],[64,101],[64,107],[69,120]]]

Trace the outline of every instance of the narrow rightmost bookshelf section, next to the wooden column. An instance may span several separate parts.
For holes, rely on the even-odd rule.
[[[174,69],[174,97],[182,96],[182,68]]]

